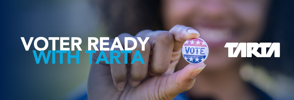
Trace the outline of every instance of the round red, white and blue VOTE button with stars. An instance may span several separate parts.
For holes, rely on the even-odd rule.
[[[188,39],[182,48],[182,54],[191,64],[202,63],[208,56],[208,46],[201,38]]]

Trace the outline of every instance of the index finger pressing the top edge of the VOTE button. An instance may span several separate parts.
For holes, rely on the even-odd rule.
[[[169,30],[169,32],[171,32],[175,37],[175,46],[173,51],[181,50],[186,40],[200,36],[197,30],[191,27],[186,27],[184,25],[175,25],[173,28],[171,28],[171,30]]]

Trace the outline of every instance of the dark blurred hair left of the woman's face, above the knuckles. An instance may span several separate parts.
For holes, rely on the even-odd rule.
[[[93,0],[101,11],[107,34],[136,35],[141,30],[163,30],[160,0]]]

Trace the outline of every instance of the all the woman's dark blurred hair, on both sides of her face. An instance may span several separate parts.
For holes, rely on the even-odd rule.
[[[160,0],[93,0],[101,11],[106,31],[115,37],[121,33],[136,35],[141,30],[163,30]],[[260,42],[280,42],[280,58],[250,58],[255,65],[271,71],[294,75],[293,1],[273,0],[268,13],[265,34]],[[267,48],[269,49],[269,48]],[[260,49],[258,50],[259,52]],[[271,63],[268,63],[271,62]]]

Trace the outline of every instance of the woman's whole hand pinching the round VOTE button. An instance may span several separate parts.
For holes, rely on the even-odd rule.
[[[150,38],[145,44],[145,51],[142,51],[142,45],[137,40],[136,49],[128,54],[128,64],[117,64],[115,60],[113,64],[105,64],[104,61],[95,64],[100,51],[93,54],[88,79],[89,100],[171,100],[179,93],[191,89],[194,77],[205,67],[204,63],[189,64],[174,73],[184,42],[199,37],[199,33],[191,27],[176,25],[170,31],[143,30],[136,36],[123,33],[118,36],[123,47],[124,37]],[[113,40],[109,40],[109,44]],[[133,42],[128,42],[128,47],[132,46]],[[118,48],[114,50],[120,51]],[[145,64],[140,61],[130,64],[136,50],[140,51]],[[110,52],[104,52],[110,61]],[[118,60],[124,62],[124,54]]]

